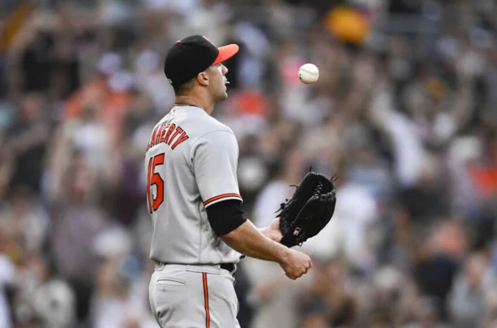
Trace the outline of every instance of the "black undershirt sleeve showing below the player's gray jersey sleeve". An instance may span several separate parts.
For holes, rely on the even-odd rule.
[[[247,220],[240,204],[240,200],[223,200],[207,207],[209,223],[218,237],[231,233]]]

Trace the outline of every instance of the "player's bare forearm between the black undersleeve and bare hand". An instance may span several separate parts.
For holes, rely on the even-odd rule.
[[[282,263],[288,254],[286,247],[266,238],[249,220],[223,235],[222,240],[235,251],[260,260]]]

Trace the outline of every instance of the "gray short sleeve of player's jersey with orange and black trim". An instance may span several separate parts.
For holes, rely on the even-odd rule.
[[[210,206],[222,200],[240,200],[237,180],[238,143],[231,131],[213,131],[199,137],[191,161],[197,186]]]

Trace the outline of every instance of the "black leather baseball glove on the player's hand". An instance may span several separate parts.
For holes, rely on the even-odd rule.
[[[335,177],[309,172],[290,200],[280,205],[280,241],[286,247],[302,243],[317,235],[335,211]]]

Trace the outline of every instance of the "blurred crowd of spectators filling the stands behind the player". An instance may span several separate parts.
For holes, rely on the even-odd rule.
[[[157,328],[143,161],[192,34],[240,45],[213,116],[257,226],[338,177],[309,274],[238,266],[242,328],[497,327],[496,1],[1,2],[0,328]]]

